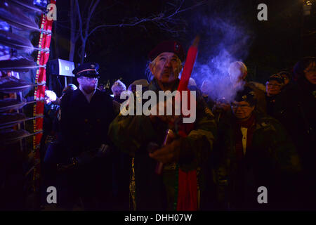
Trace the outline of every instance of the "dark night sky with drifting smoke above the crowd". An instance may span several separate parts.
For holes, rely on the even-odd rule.
[[[88,2],[79,1],[81,13]],[[92,29],[101,24],[129,23],[131,18],[145,18],[170,8],[168,2],[173,1],[100,1],[90,26]],[[183,8],[195,2],[185,0]],[[221,55],[225,49],[229,55],[225,60],[243,60],[249,69],[249,79],[265,82],[273,73],[290,70],[302,56],[315,56],[316,2],[312,2],[312,15],[303,18],[302,0],[209,0],[203,6],[175,17],[178,23],[174,27],[183,31],[178,35],[159,29],[150,22],[142,23],[142,26],[98,30],[88,39],[84,61],[100,64],[100,82],[112,84],[121,78],[128,86],[135,79],[146,78],[147,53],[160,41],[177,39],[187,51],[195,35],[200,34],[202,39],[196,67],[212,63],[211,59]],[[257,19],[257,6],[261,3],[268,6],[268,21]],[[57,9],[50,59],[69,60],[70,1],[57,1]],[[79,46],[80,39],[77,41],[75,64],[79,63]],[[194,78],[203,79],[199,75]]]

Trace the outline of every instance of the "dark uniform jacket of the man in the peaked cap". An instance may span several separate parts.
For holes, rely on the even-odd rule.
[[[112,98],[98,89],[88,103],[77,89],[62,97],[61,139],[70,157],[107,142],[107,129],[114,119]]]

